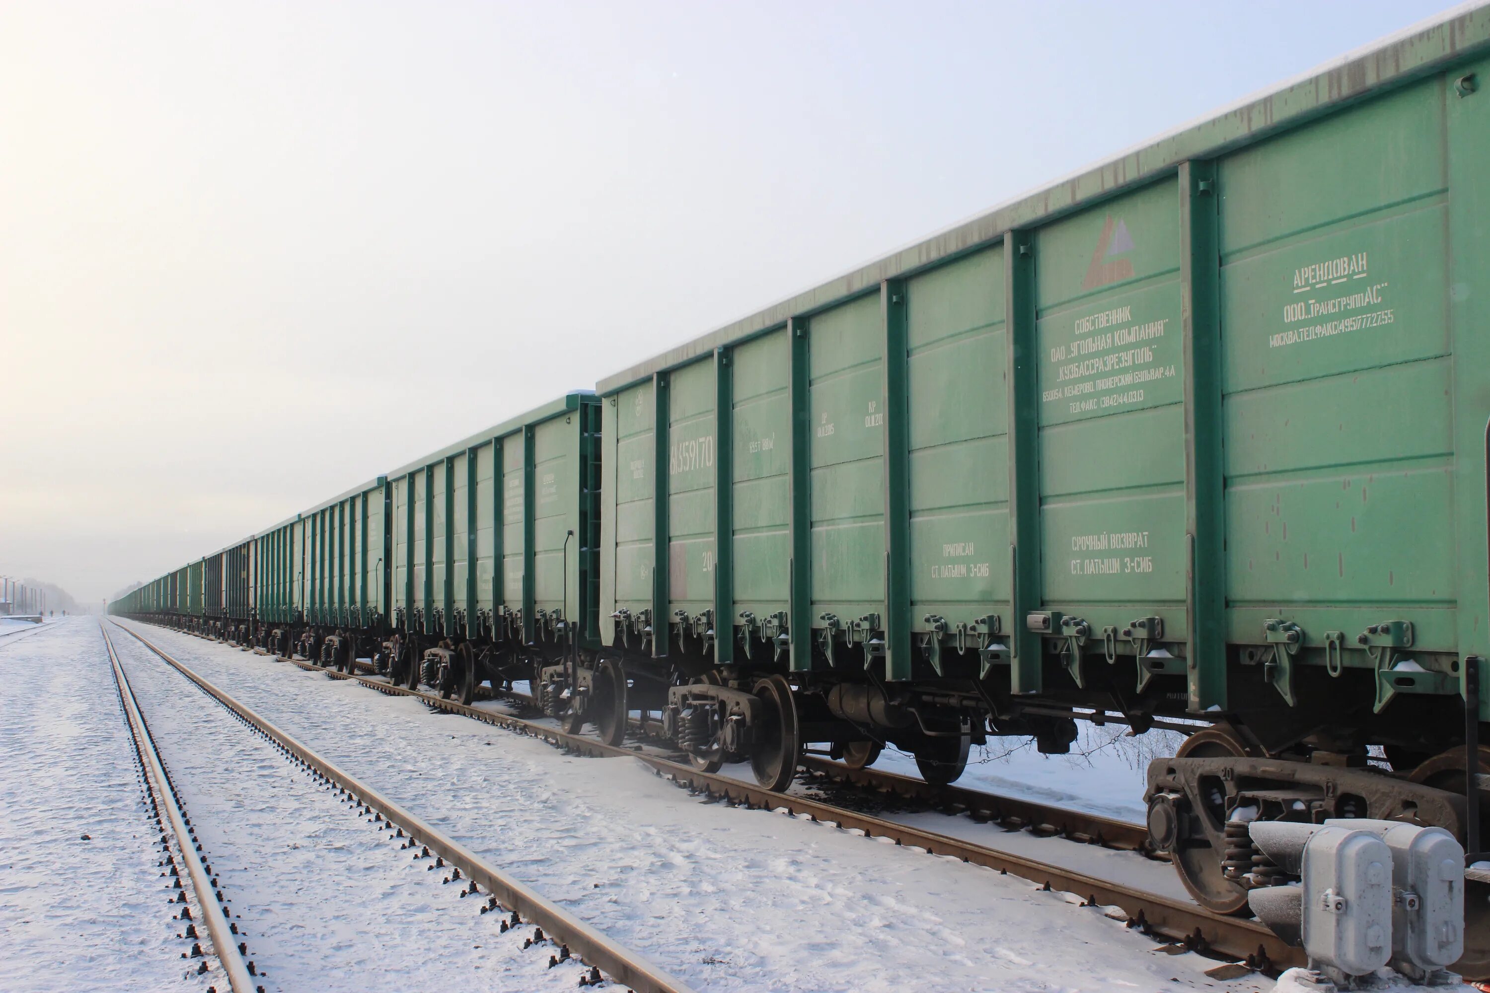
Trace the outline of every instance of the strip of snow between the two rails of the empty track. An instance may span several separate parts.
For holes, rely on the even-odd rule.
[[[127,634],[140,710],[222,883],[265,990],[572,990],[578,962],[523,950],[484,898],[462,898],[331,788]]]

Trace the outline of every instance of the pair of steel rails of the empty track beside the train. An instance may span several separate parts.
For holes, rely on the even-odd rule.
[[[161,658],[161,661],[195,683],[203,692],[215,698],[229,713],[247,724],[256,734],[273,743],[292,762],[329,783],[349,802],[355,802],[359,810],[364,810],[374,820],[383,822],[386,829],[396,831],[395,837],[407,838],[407,847],[423,849],[429,858],[437,859],[438,866],[450,865],[453,869],[451,878],[468,880],[469,892],[472,895],[487,895],[489,908],[492,911],[501,910],[511,913],[513,926],[519,923],[533,925],[536,927],[533,935],[535,942],[551,941],[554,944],[557,954],[551,957],[551,963],[577,956],[584,963],[592,966],[589,981],[593,984],[599,984],[605,977],[609,977],[614,983],[630,987],[632,990],[636,990],[636,993],[691,993],[691,989],[687,984],[668,975],[645,957],[624,948],[618,942],[595,930],[580,919],[560,908],[557,904],[544,898],[536,890],[498,871],[489,862],[483,861],[480,856],[469,852],[410,810],[401,807],[367,783],[358,780],[328,759],[310,750],[292,735],[270,724],[267,719],[203,679],[189,667],[171,658],[137,631],[124,625],[116,627],[139,640],[148,651]],[[107,642],[107,631],[104,631],[104,639]],[[131,715],[131,728],[136,727],[134,721],[139,721],[139,728],[142,729],[145,738],[149,740],[149,729],[145,727],[143,716],[140,716],[137,706],[133,704],[133,692],[128,691],[128,682],[118,662],[112,642],[109,643],[109,655],[113,661],[115,679],[121,680],[121,697],[131,701],[128,707]],[[153,752],[153,743],[149,749],[149,756],[153,762],[150,768],[159,768],[159,782],[167,783],[162,792],[170,798],[170,802],[174,804],[174,796],[171,796],[164,767],[159,765],[159,758]],[[176,814],[180,814],[179,805],[173,807],[173,810]],[[173,816],[170,820],[174,828],[177,825],[177,817]],[[182,835],[186,841],[182,841],[179,847],[189,853],[189,862],[191,858],[195,858],[194,840],[189,835],[189,822],[185,819],[185,814],[179,816],[179,822],[180,829],[186,832]],[[204,874],[203,878],[207,880],[210,875]],[[192,872],[192,883],[194,886],[197,884],[195,871]],[[213,890],[209,887],[207,893],[212,892]],[[201,890],[198,890],[198,902],[203,902]],[[212,907],[212,904],[204,905]],[[212,929],[210,925],[209,929]],[[213,947],[226,947],[229,950],[228,959],[231,959],[231,956],[237,953],[237,948],[232,945],[226,923],[224,923],[222,935],[225,936],[224,944],[219,944],[218,932],[213,930]],[[224,968],[228,969],[231,977],[232,971],[228,968],[228,959],[224,959]],[[244,972],[244,975],[247,974]],[[240,987],[234,983],[232,993],[262,993],[262,989],[255,986]]]

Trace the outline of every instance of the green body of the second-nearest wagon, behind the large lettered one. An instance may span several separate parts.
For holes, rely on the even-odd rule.
[[[597,645],[599,402],[569,393],[387,475],[392,616],[416,636],[560,619]]]

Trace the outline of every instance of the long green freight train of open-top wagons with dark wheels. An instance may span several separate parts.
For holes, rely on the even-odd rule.
[[[1183,729],[1149,829],[1223,913],[1271,878],[1247,819],[1490,849],[1487,54],[1484,7],[1390,39],[112,610],[648,712],[775,789],[808,744],[948,783],[988,735]]]

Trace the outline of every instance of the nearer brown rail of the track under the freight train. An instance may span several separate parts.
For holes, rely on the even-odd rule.
[[[139,636],[136,636],[139,637]],[[142,639],[143,640],[143,639]],[[271,658],[289,661],[307,671],[325,673],[332,679],[350,679],[383,694],[398,697],[416,697],[431,707],[459,713],[477,721],[484,721],[496,727],[519,731],[538,737],[550,744],[563,747],[587,756],[630,756],[653,767],[657,774],[673,780],[694,792],[718,798],[730,805],[742,805],[755,810],[785,810],[787,813],[811,820],[834,823],[839,828],[861,831],[866,837],[884,837],[903,846],[924,849],[930,855],[952,856],[973,865],[982,865],[1000,872],[1018,875],[1042,886],[1042,889],[1061,890],[1083,898],[1091,907],[1119,907],[1128,916],[1128,925],[1188,948],[1223,954],[1232,959],[1246,960],[1249,966],[1259,971],[1284,969],[1295,965],[1305,965],[1304,953],[1283,942],[1272,930],[1258,920],[1249,917],[1226,917],[1216,914],[1198,904],[1173,899],[1161,893],[1150,893],[1120,883],[1088,875],[1077,869],[1070,869],[1037,859],[1030,859],[1009,852],[1000,852],[966,841],[951,835],[912,828],[907,825],[875,817],[872,814],[846,810],[806,796],[791,794],[775,794],[751,783],[745,783],[726,776],[702,773],[691,765],[682,765],[672,759],[644,752],[641,746],[617,747],[597,738],[568,734],[559,728],[524,721],[511,715],[493,710],[481,710],[454,700],[446,700],[437,694],[395,686],[358,673],[343,673],[326,668],[314,662],[298,658],[285,660],[282,655]],[[1123,822],[1115,822],[1123,823]]]

